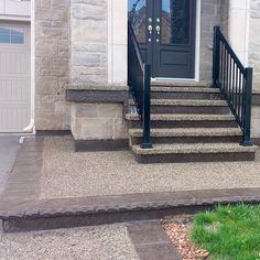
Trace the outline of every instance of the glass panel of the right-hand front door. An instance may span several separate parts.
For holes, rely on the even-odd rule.
[[[162,43],[189,43],[189,0],[162,0]]]

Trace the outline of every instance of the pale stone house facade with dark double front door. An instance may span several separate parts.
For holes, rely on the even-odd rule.
[[[29,4],[6,2],[2,13],[10,2]],[[90,142],[128,139],[130,21],[155,85],[210,85],[219,25],[241,63],[253,67],[251,132],[260,138],[259,0],[35,0],[31,7],[31,121],[23,131],[72,131],[76,141]],[[4,15],[2,28],[10,20]]]

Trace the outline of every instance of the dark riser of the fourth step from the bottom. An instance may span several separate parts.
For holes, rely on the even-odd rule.
[[[201,115],[229,115],[228,107],[191,107],[191,106],[151,106],[151,113],[201,113]]]

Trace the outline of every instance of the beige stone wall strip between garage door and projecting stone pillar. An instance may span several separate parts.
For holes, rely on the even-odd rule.
[[[68,130],[69,0],[35,0],[35,128]]]

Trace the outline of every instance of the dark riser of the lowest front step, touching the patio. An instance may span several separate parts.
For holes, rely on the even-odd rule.
[[[134,156],[136,156],[136,160],[142,164],[254,161],[253,152],[163,154],[163,155],[137,155],[134,154]]]

